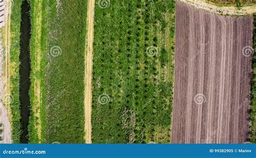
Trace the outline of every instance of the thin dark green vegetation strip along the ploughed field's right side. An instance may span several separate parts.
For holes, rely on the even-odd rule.
[[[253,49],[256,50],[256,15],[254,15]],[[256,143],[256,53],[252,57],[252,87],[251,87],[251,142]]]

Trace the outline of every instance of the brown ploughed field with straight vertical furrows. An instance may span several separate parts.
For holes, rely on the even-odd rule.
[[[177,2],[172,143],[248,141],[252,29]]]

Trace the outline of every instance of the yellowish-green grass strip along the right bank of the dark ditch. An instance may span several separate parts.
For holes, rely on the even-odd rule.
[[[42,17],[43,1],[31,0],[31,39],[30,39],[30,60],[31,60],[31,86],[30,86],[30,118],[29,118],[29,141],[41,143],[42,122],[41,122],[41,58],[42,58]]]

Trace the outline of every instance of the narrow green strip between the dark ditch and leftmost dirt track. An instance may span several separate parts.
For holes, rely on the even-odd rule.
[[[19,102],[19,38],[21,26],[21,0],[14,0],[11,8],[11,44],[10,44],[10,91],[12,142],[21,142],[21,108]]]

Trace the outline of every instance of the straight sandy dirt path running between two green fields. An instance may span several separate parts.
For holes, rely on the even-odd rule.
[[[84,91],[84,113],[85,113],[85,142],[92,143],[91,133],[91,111],[92,111],[92,61],[93,61],[93,31],[94,31],[95,0],[88,1],[87,8],[87,38],[85,52],[85,91]],[[86,50],[86,49],[85,49]]]

